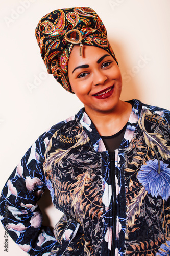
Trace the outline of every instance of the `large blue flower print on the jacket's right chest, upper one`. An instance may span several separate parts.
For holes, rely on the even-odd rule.
[[[170,168],[168,164],[160,161],[160,171],[158,160],[149,160],[147,164],[142,165],[137,178],[145,187],[145,190],[154,197],[161,196],[167,200],[170,196]]]

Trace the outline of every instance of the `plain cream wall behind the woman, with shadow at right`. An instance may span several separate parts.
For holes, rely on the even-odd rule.
[[[71,4],[70,4],[71,3]],[[8,0],[1,12],[0,189],[31,144],[82,104],[48,75],[35,39],[39,19],[55,9],[89,6],[102,18],[123,74],[122,99],[170,109],[169,0]],[[32,89],[31,89],[32,88]],[[47,222],[61,215],[46,195]],[[26,255],[0,226],[1,255]]]

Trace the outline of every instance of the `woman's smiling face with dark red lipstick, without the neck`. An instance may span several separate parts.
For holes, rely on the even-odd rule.
[[[83,55],[79,56],[79,45],[75,45],[69,57],[68,78],[87,114],[114,110],[122,90],[122,77],[107,51],[83,46]]]

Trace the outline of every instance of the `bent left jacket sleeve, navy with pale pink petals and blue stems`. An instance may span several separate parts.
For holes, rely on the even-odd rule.
[[[0,198],[5,229],[30,255],[43,255],[57,247],[51,229],[41,225],[42,214],[37,205],[46,189],[42,166],[46,145],[54,130],[41,135],[29,148],[6,182]]]

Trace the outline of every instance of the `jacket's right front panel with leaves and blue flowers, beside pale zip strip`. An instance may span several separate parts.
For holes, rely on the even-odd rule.
[[[134,113],[138,125],[125,153],[126,255],[155,256],[170,237],[169,112],[143,105]]]

